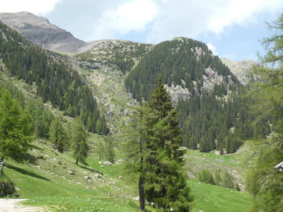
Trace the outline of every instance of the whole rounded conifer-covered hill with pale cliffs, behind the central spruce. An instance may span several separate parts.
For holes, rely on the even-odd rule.
[[[252,102],[240,98],[247,88],[204,43],[183,37],[161,42],[126,76],[125,87],[133,98],[149,100],[158,76],[168,90],[180,90],[171,97],[178,98],[183,146],[234,153],[243,141],[270,133],[267,119],[253,126]]]

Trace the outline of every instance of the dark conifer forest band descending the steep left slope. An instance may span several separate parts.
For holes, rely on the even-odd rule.
[[[50,101],[70,117],[80,117],[88,131],[108,134],[93,93],[76,70],[64,64],[59,54],[32,45],[2,23],[0,32],[0,54],[11,76],[36,86],[43,102]]]

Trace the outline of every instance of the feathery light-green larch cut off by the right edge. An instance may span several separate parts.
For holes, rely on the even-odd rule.
[[[262,40],[267,50],[260,57],[260,66],[255,67],[260,81],[252,87],[253,113],[258,117],[274,117],[272,128],[275,134],[262,142],[258,164],[248,175],[246,187],[255,196],[253,211],[283,211],[283,174],[275,165],[283,161],[283,14],[272,23],[267,23],[273,35]]]

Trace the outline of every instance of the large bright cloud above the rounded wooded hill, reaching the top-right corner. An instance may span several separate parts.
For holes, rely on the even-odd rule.
[[[158,1],[156,16],[147,42],[158,43],[176,36],[197,39],[207,33],[221,35],[227,27],[248,27],[262,13],[282,11],[282,0]]]

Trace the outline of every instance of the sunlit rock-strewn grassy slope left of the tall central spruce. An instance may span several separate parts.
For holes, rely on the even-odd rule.
[[[92,135],[91,139],[103,136]],[[129,183],[122,164],[100,167],[93,151],[87,158],[88,165],[76,165],[71,152],[57,153],[46,141],[35,141],[33,145],[23,163],[4,160],[7,167],[1,177],[13,179],[15,187],[21,189],[17,191],[21,198],[29,199],[25,204],[49,211],[139,211],[139,202],[133,199],[138,196],[137,185]],[[93,170],[100,170],[101,178],[95,179],[97,173]],[[85,176],[91,177],[92,184]],[[146,211],[159,210],[147,206]]]

